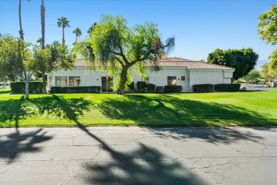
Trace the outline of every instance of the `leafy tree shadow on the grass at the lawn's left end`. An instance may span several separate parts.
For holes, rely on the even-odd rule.
[[[0,100],[0,127],[1,123],[4,126],[15,127],[19,126],[21,120],[33,115],[54,115],[60,119],[66,118],[75,123],[78,122],[78,117],[83,115],[84,110],[89,110],[89,105],[92,102],[81,98],[65,98],[58,95],[50,95],[45,97],[24,99],[24,96],[19,100]],[[38,120],[39,121],[39,120]],[[7,125],[5,122],[9,122]],[[47,125],[45,125],[47,126]]]

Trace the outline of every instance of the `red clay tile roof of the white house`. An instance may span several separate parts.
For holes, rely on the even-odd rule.
[[[197,70],[235,70],[235,68],[229,68],[223,65],[216,65],[212,63],[197,62],[193,60],[187,60],[184,58],[162,58],[158,61],[160,67],[177,67],[188,68]],[[85,63],[84,60],[76,59],[75,67],[88,67],[89,63]],[[148,64],[148,67],[152,67]]]

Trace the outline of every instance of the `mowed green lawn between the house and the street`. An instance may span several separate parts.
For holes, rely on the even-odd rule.
[[[277,91],[38,94],[0,89],[0,127],[277,125]]]

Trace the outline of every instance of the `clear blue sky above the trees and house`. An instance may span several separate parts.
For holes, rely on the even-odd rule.
[[[24,39],[32,43],[41,37],[40,0],[22,0]],[[62,41],[61,16],[70,21],[65,28],[65,43],[72,46],[79,27],[87,29],[104,14],[121,15],[129,26],[151,21],[158,24],[163,39],[175,36],[171,57],[207,60],[216,48],[253,48],[259,60],[271,55],[276,47],[262,42],[257,34],[259,15],[276,0],[45,0],[45,42]],[[0,0],[0,33],[19,36],[18,0]]]

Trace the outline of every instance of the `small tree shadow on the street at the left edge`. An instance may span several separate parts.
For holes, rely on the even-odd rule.
[[[8,159],[8,163],[18,159],[21,154],[40,152],[41,147],[36,146],[40,142],[52,139],[46,136],[43,129],[37,129],[35,132],[21,133],[16,129],[16,132],[3,135],[0,137],[0,159]]]

